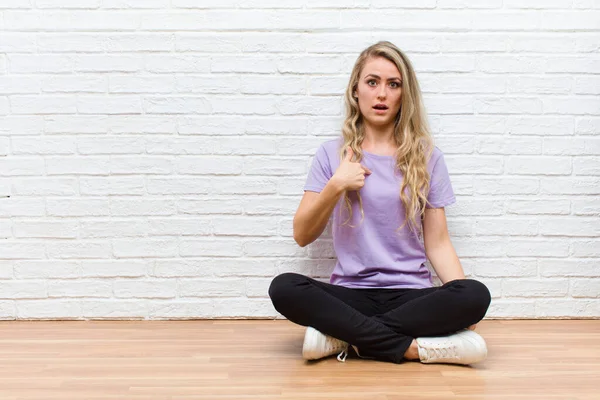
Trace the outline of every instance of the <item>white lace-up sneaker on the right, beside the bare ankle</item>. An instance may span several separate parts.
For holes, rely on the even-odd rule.
[[[485,340],[479,334],[463,330],[448,336],[417,338],[422,363],[474,364],[487,357]]]

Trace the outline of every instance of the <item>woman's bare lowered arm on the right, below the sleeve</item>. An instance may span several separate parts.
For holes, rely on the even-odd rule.
[[[446,212],[443,208],[426,208],[423,217],[425,253],[442,284],[465,279],[465,273],[450,241]]]

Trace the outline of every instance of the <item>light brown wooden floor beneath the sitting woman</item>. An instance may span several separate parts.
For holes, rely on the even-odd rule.
[[[305,362],[288,321],[0,322],[0,399],[600,399],[600,321],[483,321],[472,367]]]

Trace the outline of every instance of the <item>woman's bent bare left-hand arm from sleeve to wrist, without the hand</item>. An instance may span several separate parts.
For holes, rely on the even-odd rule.
[[[321,193],[304,193],[294,216],[294,240],[301,247],[314,242],[325,227],[338,200],[344,193],[343,186],[333,177]]]

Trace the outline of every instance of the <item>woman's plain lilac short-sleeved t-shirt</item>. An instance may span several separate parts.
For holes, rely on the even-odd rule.
[[[320,193],[340,165],[340,139],[319,147],[308,173],[304,190]],[[361,164],[372,171],[360,190],[364,220],[356,192],[352,200],[352,219],[348,219],[344,198],[333,210],[332,234],[337,263],[330,282],[350,288],[426,288],[433,286],[425,262],[425,246],[404,223],[400,200],[402,175],[395,171],[394,156],[381,156],[363,150]],[[435,208],[456,202],[442,151],[435,147],[427,165],[431,176],[427,199]],[[343,210],[343,215],[340,215]],[[419,219],[417,219],[418,221]]]

